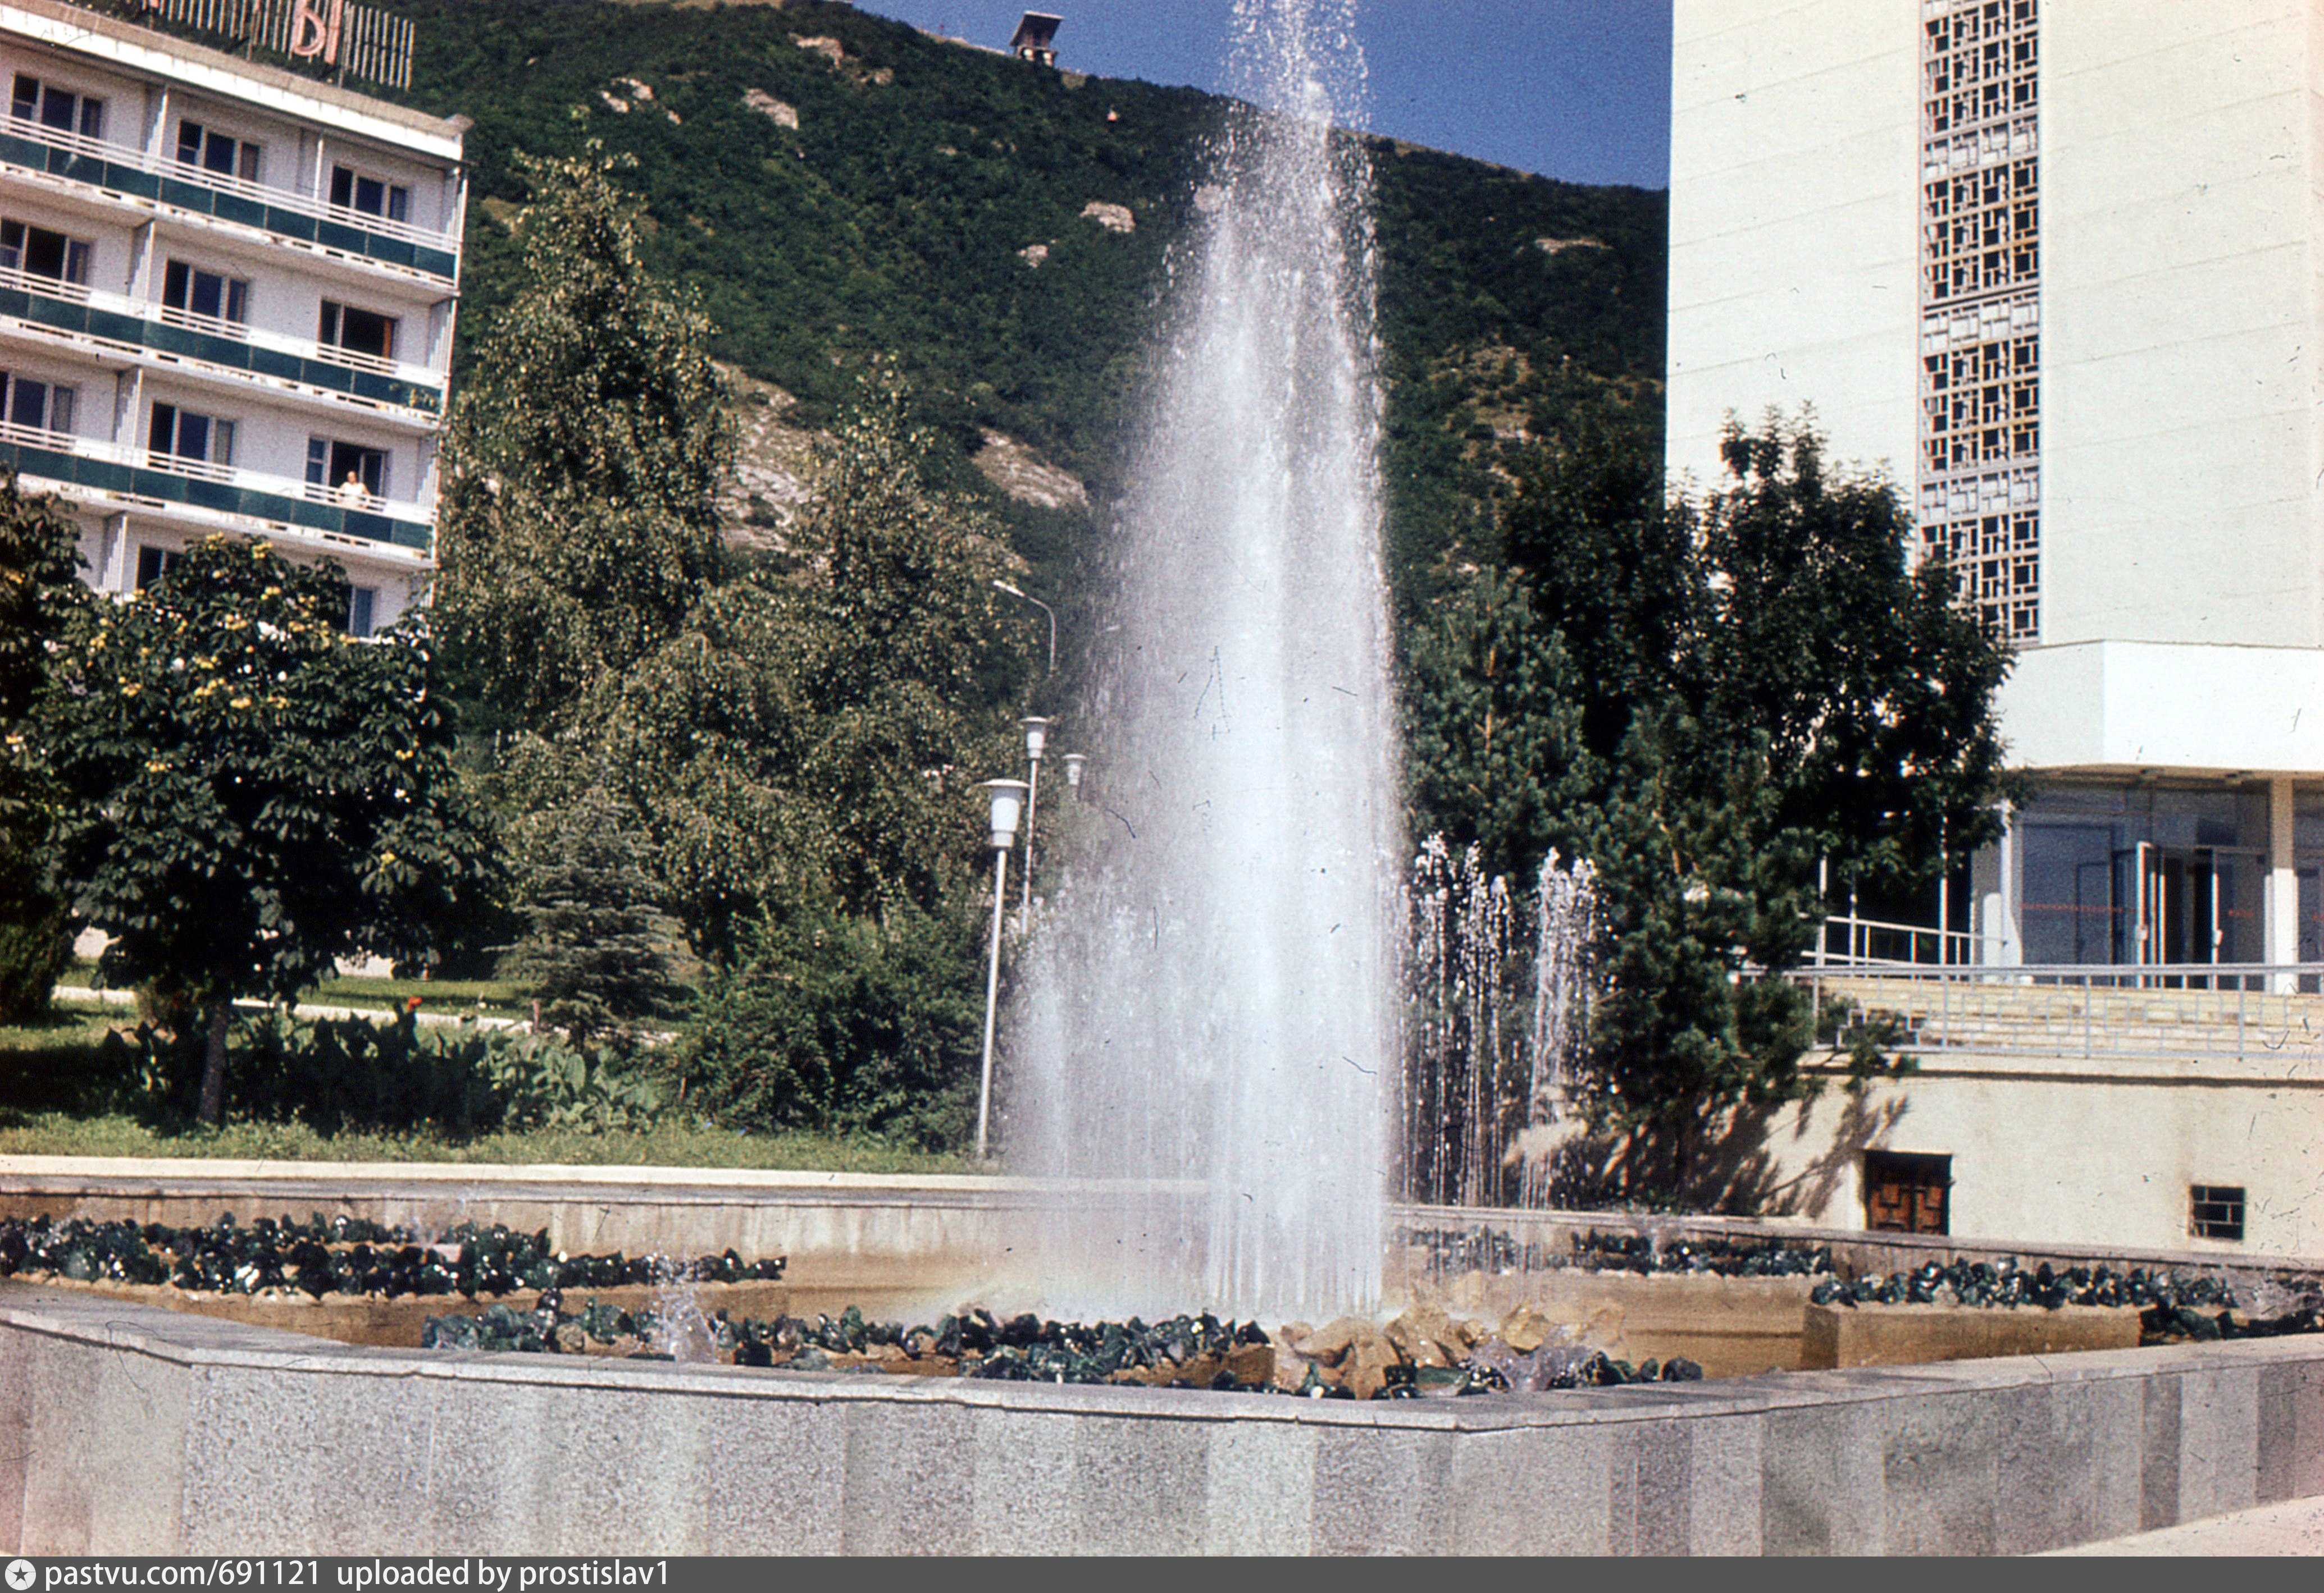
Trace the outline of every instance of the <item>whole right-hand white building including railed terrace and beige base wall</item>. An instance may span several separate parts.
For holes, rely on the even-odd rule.
[[[2013,639],[2036,780],[1948,892],[1973,968],[1857,985],[1922,1073],[1787,1115],[1778,1182],[1836,1221],[2324,1256],[2317,980],[2201,971],[2324,961],[2324,7],[1673,23],[1671,469],[1713,485],[1729,416],[1813,406]]]

